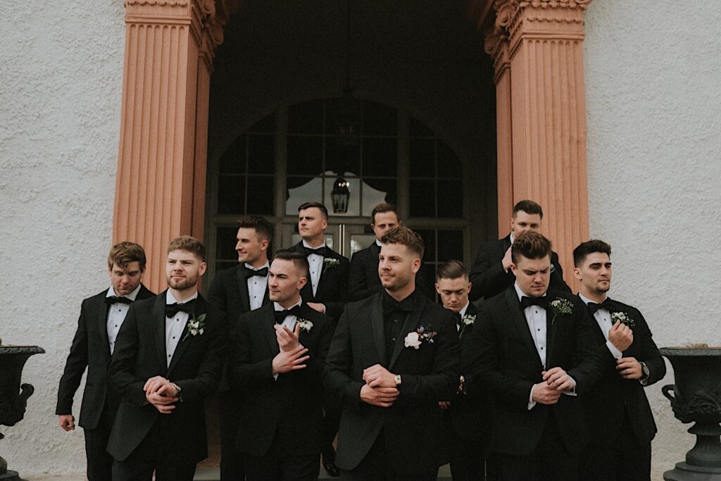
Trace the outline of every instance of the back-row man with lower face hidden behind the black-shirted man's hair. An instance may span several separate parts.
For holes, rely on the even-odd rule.
[[[381,252],[381,238],[387,231],[401,225],[398,210],[389,203],[382,203],[373,208],[371,228],[376,234],[376,241],[363,250],[353,254],[350,259],[348,296],[352,301],[366,299],[383,290],[381,278],[378,276],[378,255]]]

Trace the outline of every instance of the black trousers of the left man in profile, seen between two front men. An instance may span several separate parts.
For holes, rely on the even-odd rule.
[[[221,481],[242,481],[245,479],[243,453],[236,449],[240,428],[238,400],[242,394],[221,393],[218,396],[218,424],[221,434]]]

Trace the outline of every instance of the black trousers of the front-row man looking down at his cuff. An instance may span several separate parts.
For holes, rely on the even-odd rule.
[[[578,480],[578,454],[570,453],[556,421],[549,415],[541,441],[528,456],[491,452],[487,474],[492,481],[575,481]]]

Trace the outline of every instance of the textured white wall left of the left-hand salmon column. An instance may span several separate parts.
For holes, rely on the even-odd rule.
[[[0,6],[0,337],[47,351],[25,366],[25,420],[0,427],[22,474],[84,471],[82,430],[62,431],[55,403],[80,301],[108,285],[123,14],[118,0]]]

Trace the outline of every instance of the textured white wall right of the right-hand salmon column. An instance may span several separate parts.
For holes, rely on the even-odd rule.
[[[641,309],[659,347],[721,345],[721,6],[596,0],[585,16],[590,234],[614,250],[611,296]],[[694,444],[646,393],[660,472]]]

